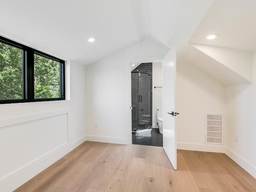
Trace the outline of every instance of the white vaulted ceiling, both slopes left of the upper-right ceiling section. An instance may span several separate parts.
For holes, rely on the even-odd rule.
[[[212,1],[0,0],[0,35],[87,65],[148,38],[186,43]]]

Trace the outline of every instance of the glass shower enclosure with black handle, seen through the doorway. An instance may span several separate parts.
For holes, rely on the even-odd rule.
[[[132,72],[132,133],[139,134],[152,128],[151,74]]]

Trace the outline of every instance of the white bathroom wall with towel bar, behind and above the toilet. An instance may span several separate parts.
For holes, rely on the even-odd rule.
[[[157,126],[157,107],[162,107],[162,62],[153,62],[152,64],[152,127]]]

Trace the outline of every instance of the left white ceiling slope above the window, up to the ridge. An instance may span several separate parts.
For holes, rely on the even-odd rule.
[[[129,0],[0,0],[0,32],[90,64],[140,42]],[[86,39],[95,36],[96,42]]]

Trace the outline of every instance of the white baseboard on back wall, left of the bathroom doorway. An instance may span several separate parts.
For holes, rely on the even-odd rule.
[[[116,144],[132,144],[131,138],[115,138],[115,137],[102,137],[95,135],[86,135],[86,141],[96,141],[96,142],[104,142],[104,143],[116,143]]]

